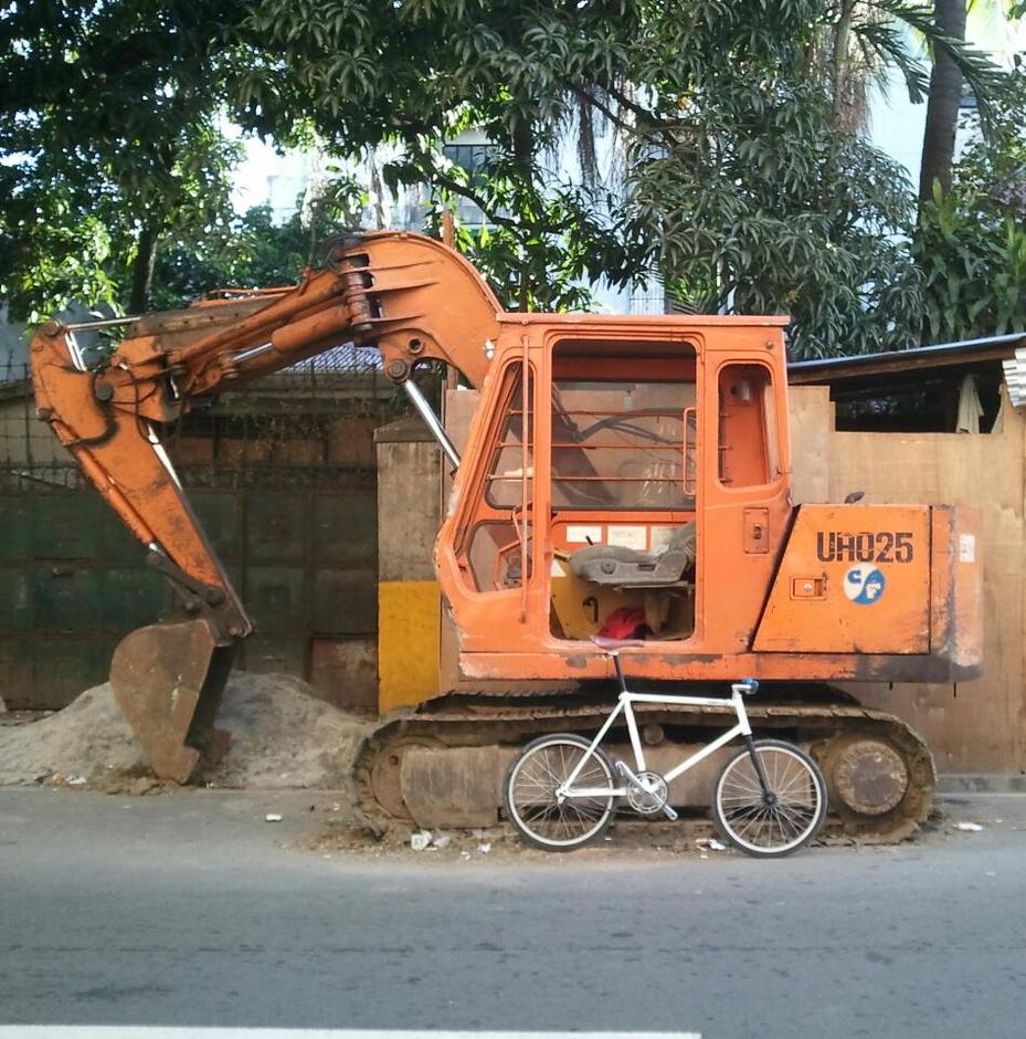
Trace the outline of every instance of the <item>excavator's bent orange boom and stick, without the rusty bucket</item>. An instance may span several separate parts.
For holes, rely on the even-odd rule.
[[[377,346],[393,382],[432,358],[478,386],[499,311],[480,275],[441,242],[355,235],[295,288],[131,322],[96,367],[81,361],[83,326],[50,322],[31,347],[39,414],[150,548],[187,609],[214,620],[219,636],[241,638],[252,623],[182,495],[160,427],[198,401],[349,342]]]

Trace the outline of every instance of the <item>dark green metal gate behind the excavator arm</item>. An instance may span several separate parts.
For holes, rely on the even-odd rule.
[[[239,667],[372,707],[373,429],[393,391],[350,350],[237,391],[166,431],[194,511],[253,616]],[[34,419],[23,369],[0,371],[0,694],[60,707],[170,602],[145,552]]]

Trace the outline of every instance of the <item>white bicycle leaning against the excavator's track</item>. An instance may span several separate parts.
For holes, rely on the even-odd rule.
[[[581,848],[605,832],[621,798],[639,815],[663,812],[676,819],[667,799],[669,784],[738,736],[744,746],[723,766],[712,789],[712,818],[723,837],[741,851],[765,858],[797,851],[816,836],[826,818],[823,774],[794,744],[752,737],[743,697],[758,691],[754,679],[732,684],[729,701],[632,693],[620,649],[643,643],[593,641],[613,660],[621,689],[616,706],[594,739],[553,733],[532,741],[514,758],[503,793],[506,815],[525,840],[546,851]],[[706,707],[728,702],[737,715],[736,725],[665,775],[646,767],[634,704]],[[611,760],[600,746],[621,715],[634,749],[633,767]]]

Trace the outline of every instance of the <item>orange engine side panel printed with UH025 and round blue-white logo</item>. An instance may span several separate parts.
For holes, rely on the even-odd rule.
[[[755,651],[930,652],[930,508],[802,505]]]

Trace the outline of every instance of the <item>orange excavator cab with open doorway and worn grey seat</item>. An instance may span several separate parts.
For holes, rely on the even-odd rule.
[[[748,649],[791,513],[783,324],[509,328],[440,538],[462,664],[533,671],[614,627],[653,653]]]

